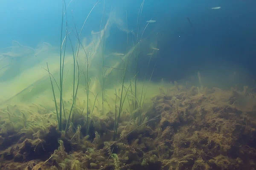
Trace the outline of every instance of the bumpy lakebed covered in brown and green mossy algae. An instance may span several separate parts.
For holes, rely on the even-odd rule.
[[[0,169],[256,169],[255,89],[159,90],[141,123],[136,111],[122,113],[116,141],[112,112],[93,116],[84,136],[77,108],[64,136],[47,108],[32,105],[29,115],[9,105],[0,114]]]

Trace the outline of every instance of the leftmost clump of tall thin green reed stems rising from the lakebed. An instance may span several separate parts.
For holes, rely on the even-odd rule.
[[[96,4],[98,3],[98,1],[96,2]],[[96,6],[96,4],[93,6],[93,8]],[[93,8],[91,9],[91,11],[93,10]],[[91,13],[90,11],[90,13]],[[84,24],[86,23],[87,21],[87,18],[90,16],[90,13],[87,15],[85,21],[84,21]],[[64,15],[66,16],[65,19],[66,19],[66,36],[64,37],[64,39],[62,40],[62,35],[63,35],[63,28],[64,28]],[[84,28],[84,24],[81,28],[81,31],[83,30]],[[60,74],[59,74],[59,79],[60,79],[60,82],[59,82],[59,85],[58,83],[56,82],[55,78],[52,76],[52,74],[50,73],[49,71],[49,67],[48,67],[48,63],[47,63],[47,71],[49,73],[49,77],[50,77],[50,82],[51,82],[51,86],[52,86],[52,94],[53,94],[53,97],[54,97],[54,102],[55,102],[55,111],[56,111],[56,115],[57,115],[57,121],[58,121],[58,128],[59,130],[61,131],[62,130],[62,111],[65,112],[65,108],[64,108],[64,102],[63,102],[63,87],[64,87],[64,60],[65,60],[65,53],[66,53],[66,45],[67,45],[67,38],[70,40],[70,44],[71,44],[71,49],[72,49],[72,54],[73,54],[73,99],[72,99],[72,103],[71,103],[71,108],[70,108],[70,113],[68,115],[68,119],[67,119],[67,124],[66,124],[66,128],[65,128],[65,134],[67,133],[67,130],[68,130],[68,127],[69,127],[69,122],[70,122],[70,116],[71,116],[71,113],[72,113],[72,110],[73,110],[73,107],[74,105],[76,104],[76,97],[77,97],[77,91],[78,91],[78,87],[79,87],[79,82],[80,82],[80,79],[81,79],[81,74],[80,74],[80,69],[79,69],[79,63],[78,63],[78,54],[79,54],[79,49],[80,49],[80,45],[81,45],[81,42],[80,42],[80,35],[81,35],[81,31],[80,33],[78,34],[77,32],[77,29],[76,29],[76,25],[74,24],[75,26],[75,30],[76,30],[76,38],[78,40],[77,42],[77,45],[76,45],[76,51],[74,51],[74,48],[73,48],[73,45],[72,45],[72,42],[71,42],[71,39],[70,39],[70,33],[71,32],[68,32],[68,22],[67,22],[67,9],[66,9],[66,3],[65,3],[65,0],[62,1],[62,17],[61,17],[61,45],[60,45],[60,66],[59,66],[59,71],[60,71]],[[64,52],[62,54],[62,49],[63,49],[63,46],[64,46]],[[82,46],[82,45],[81,45]],[[83,46],[82,46],[83,47]],[[84,47],[83,47],[84,49]],[[86,51],[84,49],[84,52],[86,54]],[[93,53],[94,54],[94,53]],[[92,54],[92,55],[93,55]],[[86,54],[86,62],[87,62],[87,74],[88,74],[88,59],[90,58],[90,53],[89,53],[89,57],[87,56]],[[85,65],[85,63],[84,63]],[[84,69],[84,65],[82,67],[81,70]],[[76,85],[76,67],[77,67],[77,85]],[[59,107],[57,105],[57,100],[56,100],[56,95],[55,95],[55,91],[54,91],[54,87],[53,87],[53,82],[52,82],[52,77],[53,79],[55,80],[55,83],[59,89],[59,92],[60,92],[60,102],[59,102]],[[87,91],[88,91],[88,87],[90,85],[90,82],[89,82],[89,78],[87,76]],[[87,99],[88,99],[88,95],[87,95]],[[88,100],[87,100],[88,101]],[[87,118],[88,118],[88,104],[87,104]],[[65,116],[65,113],[64,113],[64,116]],[[66,119],[66,116],[65,116],[65,119]],[[88,119],[87,119],[88,120]],[[88,124],[88,122],[87,122]]]

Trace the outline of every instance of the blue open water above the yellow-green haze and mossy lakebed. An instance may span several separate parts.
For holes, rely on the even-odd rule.
[[[112,8],[125,22],[127,11],[128,29],[136,30],[141,2],[106,1],[106,18]],[[66,1],[67,5],[69,3],[70,1]],[[70,28],[74,28],[73,23],[76,23],[77,28],[81,28],[95,3],[95,0],[73,0],[67,7]],[[211,9],[215,6],[221,6],[221,9]],[[141,34],[146,20],[157,20],[156,23],[149,24],[143,36],[146,41],[157,38],[157,47],[160,48],[157,58],[151,62],[151,68],[155,64],[153,79],[174,81],[197,71],[210,69],[215,70],[217,74],[224,74],[227,70],[235,71],[236,68],[242,68],[241,74],[246,73],[246,77],[255,77],[255,6],[256,2],[253,0],[145,0],[139,20],[139,31]],[[59,47],[61,10],[62,0],[2,0],[0,48],[11,46],[12,40],[33,48],[39,42],[49,42]],[[102,10],[103,1],[99,1],[87,20],[82,36],[87,36],[91,30],[99,30]],[[151,39],[153,35],[154,38]],[[113,44],[117,41],[126,42],[126,35],[117,34],[115,28],[112,29],[110,37],[107,44],[109,48],[111,40]],[[115,44],[121,51],[126,48],[122,43]],[[148,53],[147,49],[144,53]],[[143,59],[139,63],[146,67]],[[220,65],[223,69],[218,71]],[[225,66],[227,70],[224,69]],[[217,74],[215,76],[218,76]]]

